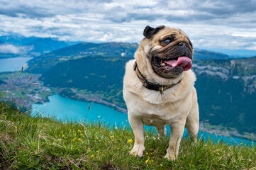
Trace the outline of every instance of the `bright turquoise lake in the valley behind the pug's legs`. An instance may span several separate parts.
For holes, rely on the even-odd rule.
[[[63,98],[57,94],[54,96],[49,96],[49,102],[44,104],[33,104],[33,111],[31,113],[32,116],[42,116],[57,118],[57,120],[62,121],[74,121],[84,122],[91,121],[94,123],[98,123],[99,121],[105,123],[106,125],[110,125],[115,128],[128,126],[128,115],[126,113],[122,113],[114,110],[108,106],[104,106],[99,103],[88,103],[83,101],[74,101],[69,98]],[[89,106],[91,108],[88,111]],[[42,114],[42,115],[41,115]],[[148,127],[145,125],[145,129],[152,129],[155,131],[155,128]],[[169,126],[167,126],[167,132],[169,132]],[[187,130],[185,129],[184,135],[187,135]],[[244,142],[247,145],[251,145],[252,142],[249,140],[241,140],[237,137],[223,137],[218,135],[213,135],[207,132],[199,132],[199,137],[207,139],[207,137],[211,137],[215,142],[219,140],[223,140],[223,142],[229,143],[230,145],[237,145],[241,142]]]

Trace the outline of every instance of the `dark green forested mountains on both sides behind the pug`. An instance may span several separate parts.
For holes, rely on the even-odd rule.
[[[133,57],[121,54],[135,50],[136,44],[81,43],[31,60],[27,72],[43,73],[40,79],[61,89],[62,96],[83,100],[92,95],[126,108],[122,81]],[[194,58],[201,122],[256,132],[256,57],[230,60],[218,52],[195,50]]]

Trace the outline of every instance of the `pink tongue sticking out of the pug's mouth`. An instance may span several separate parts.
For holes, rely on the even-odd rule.
[[[192,67],[192,61],[189,57],[179,57],[178,60],[168,60],[164,62],[172,67],[182,67],[184,71],[187,71]]]

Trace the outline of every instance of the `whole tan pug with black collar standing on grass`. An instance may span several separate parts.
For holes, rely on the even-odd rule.
[[[155,126],[159,137],[165,125],[171,128],[169,147],[164,158],[175,160],[184,128],[196,141],[199,131],[199,106],[191,71],[193,45],[180,29],[147,26],[135,52],[126,63],[123,98],[135,142],[130,154],[143,157],[144,124]]]

